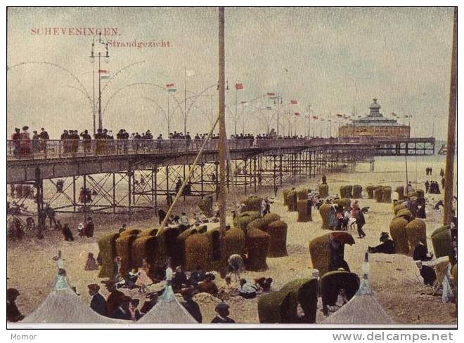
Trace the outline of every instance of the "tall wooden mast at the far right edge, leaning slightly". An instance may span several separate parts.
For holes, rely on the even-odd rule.
[[[446,152],[443,224],[451,223],[453,209],[454,151],[456,137],[456,105],[458,90],[458,8],[454,8],[453,51],[451,52],[451,83],[449,88],[448,144]]]

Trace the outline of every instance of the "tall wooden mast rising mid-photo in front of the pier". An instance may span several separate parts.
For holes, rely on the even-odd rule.
[[[226,63],[224,42],[224,7],[219,7],[219,224],[221,231],[226,229]]]

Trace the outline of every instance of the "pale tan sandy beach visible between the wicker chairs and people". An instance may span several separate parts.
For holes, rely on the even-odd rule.
[[[423,188],[423,182],[427,180],[425,166],[433,167],[432,180],[440,181],[439,170],[444,168],[444,156],[424,157],[423,159],[411,159],[409,163],[408,180],[413,187]],[[333,173],[327,175],[330,194],[339,193],[340,185],[361,184],[364,189],[370,184],[382,184],[393,188],[405,184],[404,158],[379,158],[375,162],[375,171],[370,173],[368,166],[360,164],[355,173]],[[456,174],[455,174],[456,175]],[[430,180],[430,179],[428,179]],[[320,176],[309,179],[300,184],[298,188],[316,188]],[[455,182],[456,184],[456,182]],[[297,213],[289,213],[283,206],[282,189],[292,187],[284,185],[279,189],[278,197],[271,206],[271,212],[281,215],[282,220],[288,223],[288,256],[279,258],[268,258],[269,270],[264,272],[245,271],[242,276],[252,281],[258,276],[273,278],[273,290],[280,289],[288,281],[295,278],[311,277],[311,257],[309,255],[309,241],[312,238],[325,234],[327,231],[321,229],[321,217],[317,211],[313,212],[313,222],[298,223]],[[455,188],[455,194],[456,194]],[[262,189],[257,194],[271,196],[271,187]],[[392,194],[395,197],[395,194]],[[389,231],[389,222],[392,220],[392,204],[376,203],[368,200],[367,194],[363,192],[360,199],[361,207],[368,206],[366,214],[366,238],[356,238],[356,231],[349,231],[354,237],[356,244],[345,247],[345,260],[354,273],[361,275],[363,255],[368,246],[375,246],[379,242],[380,233]],[[432,204],[443,199],[443,194],[429,197],[427,204],[427,245],[432,250],[430,234],[437,227],[442,226],[443,210],[433,210]],[[188,203],[182,201],[176,210],[186,210],[190,213],[198,212],[196,203],[198,199],[191,199]],[[33,205],[32,205],[33,206]],[[98,254],[98,238],[108,231],[117,231],[122,223],[127,223],[129,228],[148,229],[157,227],[157,217],[150,215],[139,215],[130,222],[127,217],[113,215],[94,215],[96,224],[95,236],[93,238],[77,237],[77,224],[82,221],[82,215],[74,217],[63,217],[62,222],[70,223],[75,232],[75,242],[68,243],[63,240],[60,233],[47,231],[44,240],[28,237],[20,242],[8,242],[7,271],[8,288],[17,288],[21,295],[18,297],[18,308],[23,314],[30,314],[37,309],[44,298],[51,291],[56,276],[56,262],[52,260],[58,250],[61,250],[65,258],[64,266],[67,270],[70,284],[77,287],[82,302],[89,304],[90,296],[87,293],[89,283],[100,283],[97,277],[98,271],[84,271],[86,256],[89,252]],[[221,286],[223,281],[216,279],[217,285]],[[422,283],[419,270],[411,257],[404,255],[375,254],[370,258],[370,285],[389,316],[399,324],[447,324],[456,325],[457,318],[452,315],[454,304],[442,303],[441,296],[430,295],[430,288]],[[132,297],[138,297],[143,301],[143,295],[137,290],[124,290]],[[102,288],[101,293],[108,293]],[[203,322],[210,323],[214,317],[214,306],[218,299],[201,293],[195,295],[195,300],[200,304]],[[241,297],[229,301],[231,305],[231,318],[237,323],[259,323],[257,312],[257,299],[243,300]],[[323,321],[321,306],[318,308],[317,323]]]

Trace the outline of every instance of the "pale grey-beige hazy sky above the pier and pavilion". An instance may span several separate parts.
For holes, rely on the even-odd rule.
[[[298,135],[308,124],[311,133],[327,135],[328,121],[308,123],[309,105],[318,119],[363,116],[377,97],[384,116],[411,116],[400,121],[411,121],[412,136],[430,137],[433,126],[445,139],[452,8],[226,8],[225,17],[228,135],[235,122],[238,133],[263,133],[268,112],[276,128],[265,95],[278,92],[284,133],[290,123]],[[169,117],[170,130],[183,131],[184,90],[187,130],[210,128],[219,108],[217,8],[8,8],[7,20],[9,133],[25,125],[45,127],[52,138],[63,129],[92,130],[94,36],[76,28],[108,28],[110,59],[101,69],[114,78],[101,80],[105,128],[166,136]],[[121,46],[134,41],[147,46]],[[167,83],[176,93],[167,93]],[[236,83],[244,89],[236,91]],[[339,123],[330,125],[334,135]]]

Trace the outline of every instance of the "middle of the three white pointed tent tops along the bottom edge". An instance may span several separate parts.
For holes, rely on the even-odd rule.
[[[195,318],[180,304],[172,287],[167,285],[157,304],[137,323],[141,324],[197,324]]]

